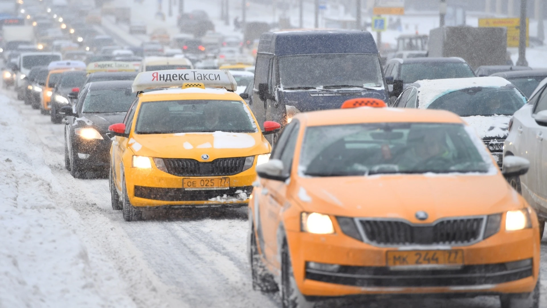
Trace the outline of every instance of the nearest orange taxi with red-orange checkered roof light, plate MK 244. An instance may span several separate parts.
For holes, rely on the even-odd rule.
[[[396,295],[537,308],[538,218],[504,179],[529,162],[501,172],[451,112],[365,102],[378,107],[295,115],[257,167],[253,288],[285,308]]]

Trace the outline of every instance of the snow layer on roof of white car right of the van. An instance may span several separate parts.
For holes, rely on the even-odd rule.
[[[419,85],[418,101],[419,109],[427,109],[436,99],[447,93],[461,89],[482,87],[501,88],[506,86],[514,87],[510,81],[502,77],[472,77],[472,78],[451,78],[418,80],[414,84]]]

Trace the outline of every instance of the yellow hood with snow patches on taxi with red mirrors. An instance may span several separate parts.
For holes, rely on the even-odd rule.
[[[137,155],[160,158],[194,158],[213,161],[222,157],[244,157],[270,152],[270,144],[260,133],[177,133],[133,134],[127,141]]]

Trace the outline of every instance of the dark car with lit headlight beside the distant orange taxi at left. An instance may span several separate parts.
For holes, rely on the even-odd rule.
[[[61,74],[60,81],[55,84],[49,103],[52,123],[61,123],[64,116],[59,114],[59,110],[61,107],[72,105],[71,100],[78,97],[86,78],[85,71],[66,71]]]

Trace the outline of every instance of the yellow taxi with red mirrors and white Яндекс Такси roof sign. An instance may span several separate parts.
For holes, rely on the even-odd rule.
[[[174,88],[173,88],[174,87]],[[153,90],[143,93],[145,90]],[[123,123],[113,124],[110,191],[126,221],[146,208],[247,206],[255,167],[270,144],[251,110],[234,93],[227,71],[141,72]]]

